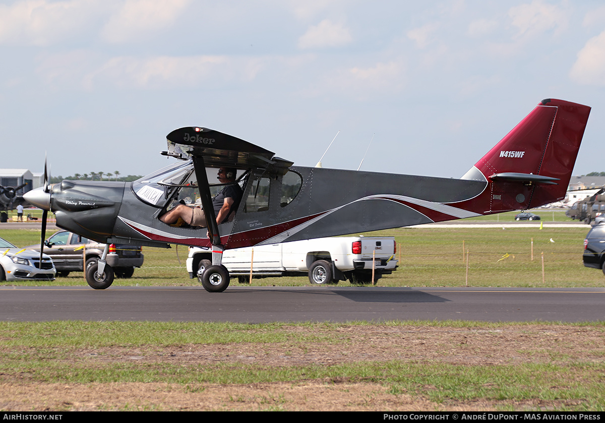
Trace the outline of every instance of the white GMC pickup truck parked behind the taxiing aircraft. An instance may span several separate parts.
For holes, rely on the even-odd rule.
[[[312,284],[371,283],[397,268],[393,237],[332,237],[226,250],[223,264],[240,283],[250,277],[309,275]],[[201,278],[212,264],[208,249],[190,247],[187,271]],[[374,266],[374,269],[372,267]]]

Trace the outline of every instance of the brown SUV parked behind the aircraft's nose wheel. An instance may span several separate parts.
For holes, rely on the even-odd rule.
[[[39,245],[25,248],[40,251]],[[44,253],[48,254],[57,269],[59,276],[67,276],[70,272],[82,272],[103,254],[105,244],[97,243],[68,231],[59,231],[44,241]],[[110,244],[106,258],[117,278],[129,278],[134,274],[135,267],[143,266],[143,254],[140,246],[129,244]]]

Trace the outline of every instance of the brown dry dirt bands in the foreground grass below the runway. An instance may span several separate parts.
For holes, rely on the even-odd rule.
[[[292,326],[292,335],[330,335],[329,341],[301,343],[187,344],[136,349],[103,347],[70,352],[87,366],[95,362],[146,364],[246,363],[261,366],[332,366],[357,361],[446,362],[499,366],[529,362],[603,362],[600,327],[518,325],[496,329],[414,326]],[[293,339],[298,339],[293,336]],[[45,384],[2,375],[0,410],[495,410],[552,407],[528,402],[487,401],[437,404],[421,396],[390,392],[374,382],[311,380],[246,385],[107,383]],[[571,405],[573,401],[570,402]],[[560,405],[560,404],[559,404]]]

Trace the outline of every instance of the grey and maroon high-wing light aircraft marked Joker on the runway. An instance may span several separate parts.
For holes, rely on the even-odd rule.
[[[177,162],[132,183],[64,180],[25,194],[56,215],[60,228],[110,245],[211,247],[200,269],[204,289],[222,292],[224,249],[330,237],[526,210],[561,200],[590,107],[546,99],[460,179],[293,166],[271,151],[218,131],[189,126],[167,136],[162,154]],[[217,224],[207,170],[237,169],[243,190],[232,217]],[[222,185],[222,186],[221,186]],[[203,206],[208,228],[160,220],[178,203]],[[189,220],[189,219],[187,219]],[[190,223],[190,222],[187,222]],[[193,220],[191,220],[193,223]],[[42,225],[44,240],[45,223]],[[43,248],[43,246],[42,246]],[[86,269],[105,289],[113,271],[103,254]]]

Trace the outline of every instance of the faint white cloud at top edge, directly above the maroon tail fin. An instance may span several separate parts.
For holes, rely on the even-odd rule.
[[[520,37],[567,27],[566,12],[557,5],[545,4],[541,0],[511,7],[508,16],[512,19],[512,25],[518,28],[517,36]]]

